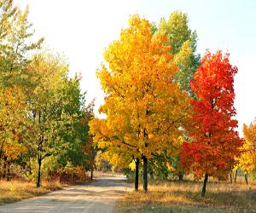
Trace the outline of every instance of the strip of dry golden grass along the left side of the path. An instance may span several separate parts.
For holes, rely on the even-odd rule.
[[[83,181],[83,183],[90,180]],[[80,182],[82,183],[82,182]],[[36,183],[21,180],[0,181],[0,205],[17,202],[21,199],[33,198],[45,193],[50,193],[61,187],[71,185],[60,181],[42,181],[41,187],[36,187]]]

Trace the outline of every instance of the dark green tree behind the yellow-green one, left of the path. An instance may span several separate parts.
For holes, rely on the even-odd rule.
[[[67,98],[67,105],[63,105],[65,112],[70,116],[76,114],[73,122],[66,124],[64,131],[60,136],[64,141],[69,142],[69,146],[63,151],[58,158],[58,162],[62,166],[67,165],[67,162],[73,166],[83,165],[85,169],[90,169],[91,146],[92,139],[89,135],[89,121],[93,117],[94,101],[87,107],[85,104],[85,93],[80,94],[80,81],[82,77],[77,76],[74,79],[66,81],[65,94]],[[67,132],[66,129],[72,129]]]

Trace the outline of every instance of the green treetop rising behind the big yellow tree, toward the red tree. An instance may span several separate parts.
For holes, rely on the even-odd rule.
[[[152,23],[150,32],[154,34],[154,37],[165,35],[168,38],[166,45],[171,45],[173,61],[179,67],[174,79],[180,89],[186,89],[189,95],[195,98],[189,83],[190,79],[193,79],[197,67],[201,66],[201,55],[196,54],[197,33],[191,31],[188,22],[187,13],[175,10],[170,14],[169,20],[160,19],[158,27]]]

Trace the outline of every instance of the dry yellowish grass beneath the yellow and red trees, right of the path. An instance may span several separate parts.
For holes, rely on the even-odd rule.
[[[239,178],[230,182],[208,181],[201,198],[202,181],[148,180],[148,193],[126,193],[119,200],[119,213],[126,212],[256,212],[256,182]],[[172,208],[172,211],[171,211]]]

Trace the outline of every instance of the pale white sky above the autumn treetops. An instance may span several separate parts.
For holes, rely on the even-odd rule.
[[[21,9],[29,6],[28,20],[35,30],[33,39],[45,38],[55,52],[64,53],[70,63],[70,77],[82,72],[82,92],[87,104],[96,97],[95,114],[104,104],[104,93],[96,68],[103,61],[103,49],[119,39],[128,27],[129,14],[144,16],[149,22],[169,19],[174,10],[189,17],[189,27],[197,32],[197,53],[229,50],[230,64],[237,66],[235,107],[238,131],[256,117],[256,1],[255,0],[15,0]]]

